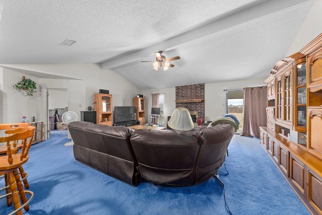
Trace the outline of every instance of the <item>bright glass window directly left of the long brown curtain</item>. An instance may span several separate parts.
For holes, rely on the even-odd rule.
[[[236,116],[239,121],[239,129],[236,133],[241,133],[243,129],[243,110],[244,110],[244,90],[226,90],[227,110],[226,113]]]

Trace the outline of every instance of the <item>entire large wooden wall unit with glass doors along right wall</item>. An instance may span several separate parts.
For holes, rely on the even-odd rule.
[[[322,34],[276,62],[265,83],[260,144],[309,211],[322,214]]]

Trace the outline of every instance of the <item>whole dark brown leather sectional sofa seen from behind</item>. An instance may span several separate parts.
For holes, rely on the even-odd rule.
[[[187,186],[208,180],[222,165],[231,124],[198,131],[140,129],[71,122],[74,158],[128,183]]]

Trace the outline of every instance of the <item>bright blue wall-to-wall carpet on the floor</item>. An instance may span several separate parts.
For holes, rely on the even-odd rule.
[[[64,146],[69,141],[66,130],[54,130],[31,147],[24,168],[35,197],[24,214],[229,214],[214,179],[189,187],[132,187],[75,161],[72,147]],[[223,166],[219,176],[232,214],[310,214],[258,138],[234,135],[228,150],[229,174]],[[0,214],[12,209],[0,199]]]

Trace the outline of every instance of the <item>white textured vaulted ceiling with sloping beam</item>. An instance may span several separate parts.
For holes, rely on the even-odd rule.
[[[101,63],[142,89],[264,78],[314,2],[0,0],[0,63]],[[140,62],[159,50],[181,59]]]

